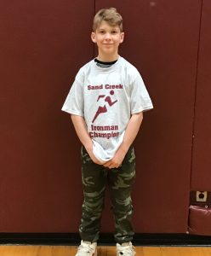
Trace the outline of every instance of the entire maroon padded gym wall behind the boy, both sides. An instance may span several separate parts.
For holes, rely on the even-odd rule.
[[[190,190],[210,191],[208,0],[2,1],[0,232],[77,232],[80,143],[60,108],[94,57],[92,19],[105,6],[123,14],[120,54],[155,107],[135,143],[136,232],[185,233]],[[102,231],[112,230],[107,196]]]

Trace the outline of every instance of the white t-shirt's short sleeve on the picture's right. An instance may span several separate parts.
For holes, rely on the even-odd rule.
[[[151,98],[148,91],[145,88],[143,79],[140,76],[140,73],[131,85],[131,94],[130,94],[130,109],[131,114],[140,113],[142,111],[149,110],[153,108]]]

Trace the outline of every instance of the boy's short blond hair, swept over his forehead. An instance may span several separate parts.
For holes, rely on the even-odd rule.
[[[123,17],[117,12],[116,8],[100,9],[93,20],[93,32],[96,31],[102,21],[108,22],[110,26],[119,26],[120,31],[123,32]]]

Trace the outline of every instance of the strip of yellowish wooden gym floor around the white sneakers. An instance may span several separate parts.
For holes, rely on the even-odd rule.
[[[74,256],[71,246],[0,246],[1,256]],[[115,247],[98,247],[98,256],[116,256]],[[211,247],[136,247],[136,256],[211,256]]]

